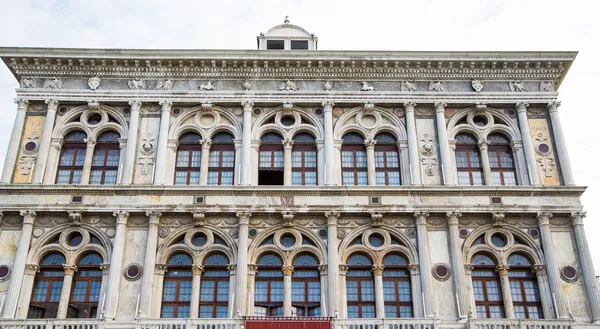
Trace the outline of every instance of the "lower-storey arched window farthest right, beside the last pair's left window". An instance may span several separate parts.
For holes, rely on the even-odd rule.
[[[515,316],[518,319],[541,319],[544,317],[537,278],[531,261],[521,255],[508,257],[508,278]]]

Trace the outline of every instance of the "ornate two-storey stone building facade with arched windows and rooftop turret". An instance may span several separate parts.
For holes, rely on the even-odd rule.
[[[0,48],[0,326],[595,327],[558,114],[576,53],[317,40]]]

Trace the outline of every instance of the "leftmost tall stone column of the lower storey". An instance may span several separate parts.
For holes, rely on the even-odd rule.
[[[19,244],[17,245],[15,262],[11,270],[8,292],[6,293],[6,297],[4,299],[4,313],[2,314],[3,319],[14,319],[15,317],[17,303],[19,301],[19,293],[21,292],[21,286],[23,284],[25,263],[27,261],[27,254],[29,253],[31,232],[33,231],[33,222],[35,221],[36,213],[34,210],[22,210],[21,216],[23,216],[23,228],[21,229],[21,236],[19,237]]]

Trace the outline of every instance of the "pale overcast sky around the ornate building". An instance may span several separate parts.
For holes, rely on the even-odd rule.
[[[600,270],[598,1],[0,0],[0,46],[256,49],[256,35],[285,15],[321,50],[579,51],[560,113],[576,183],[588,186],[585,224]],[[0,64],[0,166],[17,87]]]

